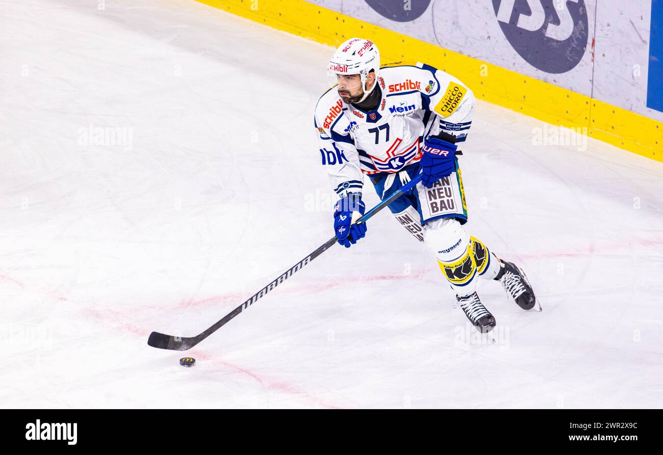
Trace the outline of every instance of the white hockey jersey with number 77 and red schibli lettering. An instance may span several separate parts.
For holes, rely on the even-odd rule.
[[[363,174],[399,172],[421,158],[424,137],[467,137],[474,96],[461,81],[426,64],[380,68],[381,101],[373,111],[348,105],[331,87],[316,105],[320,159],[339,197],[361,192]]]

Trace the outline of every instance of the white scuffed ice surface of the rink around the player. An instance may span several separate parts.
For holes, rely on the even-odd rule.
[[[542,313],[481,281],[484,344],[385,211],[195,368],[147,346],[333,235],[312,128],[331,52],[188,0],[0,1],[0,406],[663,407],[663,164],[533,145],[544,124],[487,103],[461,158],[467,228]],[[90,124],[131,144],[85,144]]]

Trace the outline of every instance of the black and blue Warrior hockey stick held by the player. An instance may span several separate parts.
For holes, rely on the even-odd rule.
[[[373,207],[373,209],[365,213],[363,217],[358,219],[357,224],[365,223],[365,221],[367,221],[369,218],[373,217],[373,215],[384,209],[389,203],[391,203],[392,201],[397,199],[400,195],[402,195],[402,193],[414,187],[414,185],[419,183],[421,179],[422,179],[422,174],[419,174],[418,176],[414,177],[414,179],[410,180],[408,183],[400,187],[400,189],[394,191],[394,193],[392,193],[392,195],[387,197],[387,199],[381,201],[378,205]],[[243,310],[253,305],[253,303],[256,303],[262,297],[265,297],[265,294],[267,294],[269,291],[274,289],[274,287],[276,287],[286,279],[290,278],[292,274],[298,272],[298,270],[308,265],[312,260],[320,256],[320,254],[322,254],[323,252],[328,250],[328,248],[330,248],[333,244],[335,244],[337,240],[338,238],[336,236],[333,236],[332,238],[324,242],[324,244],[322,244],[322,246],[320,246],[317,250],[306,256],[306,258],[300,260],[300,262],[292,266],[290,269],[288,269],[278,278],[274,279],[274,281],[269,283],[267,286],[263,287],[263,289],[253,294],[253,296],[250,299],[248,299],[247,301],[239,305],[239,307],[235,308],[233,311],[225,315],[223,319],[217,321],[217,323],[215,323],[210,328],[206,329],[204,332],[196,336],[172,336],[159,332],[152,332],[150,334],[150,338],[147,340],[147,344],[153,346],[154,348],[172,349],[178,351],[184,351],[193,348],[194,346],[196,346],[196,344],[200,343],[202,340],[213,334],[213,332],[223,327],[225,323],[233,319],[235,316],[239,315],[239,313],[241,313]]]

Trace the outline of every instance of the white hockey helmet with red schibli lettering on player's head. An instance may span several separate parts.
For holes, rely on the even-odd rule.
[[[380,52],[377,46],[371,40],[362,38],[350,38],[343,42],[333,56],[327,67],[327,76],[330,83],[337,83],[339,74],[359,74],[361,77],[361,86],[364,90],[364,96],[358,102],[364,101],[370,91],[366,87],[366,79],[371,70],[375,72],[377,81],[377,72],[380,69]],[[373,89],[375,89],[373,84]],[[371,90],[373,91],[373,90]]]

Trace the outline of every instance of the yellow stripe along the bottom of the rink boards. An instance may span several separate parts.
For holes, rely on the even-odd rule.
[[[627,109],[458,54],[303,0],[197,0],[278,30],[338,46],[361,36],[379,43],[381,59],[424,61],[459,77],[484,99],[552,125],[663,162],[663,123]]]

